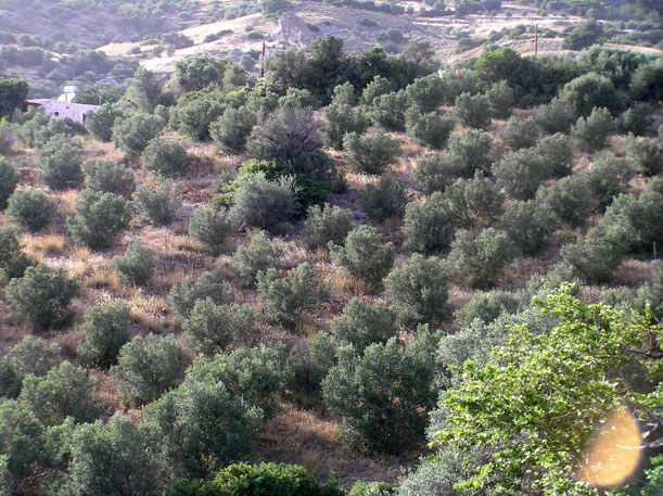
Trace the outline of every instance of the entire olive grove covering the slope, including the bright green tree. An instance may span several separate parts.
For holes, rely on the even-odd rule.
[[[139,69],[85,127],[34,112],[0,125],[5,320],[30,330],[0,357],[0,494],[345,494],[238,463],[292,402],[367,456],[421,449],[428,430],[433,458],[353,496],[596,494],[572,454],[628,405],[651,447],[604,494],[653,495],[663,270],[614,281],[663,242],[661,60],[497,49],[439,77],[424,41],[346,55],[328,36],[311,52],[270,55],[260,81],[209,56],[169,81]],[[86,133],[124,156],[84,160]],[[183,217],[192,142],[237,167],[207,175],[187,219],[206,268],[153,288],[163,255],[140,229]],[[18,144],[34,170],[13,163]],[[122,297],[81,309],[93,288],[22,242],[55,230],[107,255],[120,288],[162,291],[161,332],[137,331]],[[49,341],[69,328],[74,349]],[[289,339],[268,346],[265,328]],[[113,411],[97,377],[140,415]]]

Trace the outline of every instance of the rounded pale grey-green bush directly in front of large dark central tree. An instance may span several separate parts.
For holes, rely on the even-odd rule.
[[[244,176],[238,180],[230,216],[240,225],[280,230],[295,215],[296,193],[294,179],[290,176],[273,182],[264,173]]]

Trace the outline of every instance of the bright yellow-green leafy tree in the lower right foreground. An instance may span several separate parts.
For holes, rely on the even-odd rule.
[[[633,370],[655,380],[656,361],[647,349],[661,339],[661,328],[643,316],[585,304],[570,287],[538,304],[559,322],[544,333],[517,327],[489,364],[463,365],[458,386],[442,396],[446,418],[434,443],[469,462],[471,473],[459,489],[607,494],[577,481],[578,461],[587,460],[587,441],[611,411],[623,415],[627,404],[642,422],[660,412],[660,383],[634,387],[642,376],[636,379]],[[654,443],[653,435],[643,442]],[[489,458],[474,457],[480,443],[490,449]],[[581,468],[583,479],[597,468]]]

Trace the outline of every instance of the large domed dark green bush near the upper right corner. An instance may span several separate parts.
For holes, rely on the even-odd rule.
[[[560,92],[560,100],[569,105],[576,118],[588,117],[599,107],[607,109],[613,116],[624,110],[624,102],[612,81],[596,73],[585,74],[566,82]]]

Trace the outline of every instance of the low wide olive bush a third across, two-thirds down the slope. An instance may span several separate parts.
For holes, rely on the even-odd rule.
[[[196,352],[215,355],[245,342],[254,326],[255,314],[251,305],[224,308],[207,297],[195,302],[182,330]]]

